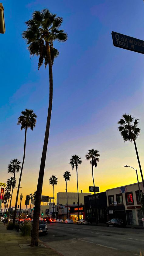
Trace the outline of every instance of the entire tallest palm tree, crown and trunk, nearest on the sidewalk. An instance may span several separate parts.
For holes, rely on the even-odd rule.
[[[41,12],[35,11],[32,19],[26,22],[27,30],[23,32],[23,38],[26,39],[28,50],[30,55],[39,56],[38,68],[43,64],[45,67],[49,66],[49,107],[46,121],[46,131],[43,143],[43,151],[39,169],[39,178],[37,184],[37,194],[35,202],[35,211],[33,217],[33,232],[31,246],[38,245],[38,234],[39,234],[39,213],[40,213],[40,202],[43,187],[43,176],[46,161],[46,151],[49,139],[50,131],[50,119],[52,111],[53,101],[53,61],[54,58],[59,55],[57,49],[53,47],[53,41],[58,40],[59,42],[65,42],[67,40],[67,34],[64,30],[59,30],[63,19],[56,17],[56,14],[52,14],[48,9],[44,9]]]

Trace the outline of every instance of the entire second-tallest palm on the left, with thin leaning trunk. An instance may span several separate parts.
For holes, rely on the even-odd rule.
[[[17,190],[17,195],[16,195],[16,200],[15,200],[15,211],[14,211],[14,216],[13,216],[13,225],[15,225],[15,217],[16,217],[16,209],[17,209],[17,203],[18,203],[18,196],[19,196],[19,187],[20,187],[20,182],[22,178],[22,170],[23,170],[23,165],[25,161],[25,154],[26,154],[26,133],[27,129],[30,128],[33,131],[33,128],[36,126],[36,114],[33,112],[32,109],[25,109],[25,111],[21,112],[21,116],[18,118],[17,125],[21,125],[21,131],[25,129],[25,141],[24,141],[24,150],[23,150],[23,160],[22,160],[22,168],[19,176],[19,185],[18,185],[18,190]]]

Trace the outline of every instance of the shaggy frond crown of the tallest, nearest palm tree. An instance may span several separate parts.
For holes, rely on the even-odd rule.
[[[50,46],[51,61],[59,55],[59,51],[53,47],[53,41],[65,42],[67,40],[67,33],[64,30],[59,30],[63,18],[56,17],[48,9],[41,12],[33,12],[33,17],[25,22],[28,26],[27,30],[22,33],[22,37],[26,39],[29,45],[28,50],[31,55],[39,56],[39,67],[45,61],[45,67],[48,64],[46,43]]]

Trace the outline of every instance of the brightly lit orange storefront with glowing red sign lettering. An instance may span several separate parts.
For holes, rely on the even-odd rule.
[[[80,219],[85,219],[85,213],[84,213],[84,205],[79,206],[70,206],[70,219],[72,219],[74,222],[78,221],[78,212],[80,215]]]

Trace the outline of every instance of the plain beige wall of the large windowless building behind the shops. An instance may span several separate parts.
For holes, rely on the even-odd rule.
[[[91,195],[91,193],[79,193],[79,204],[84,204],[84,196]],[[65,205],[67,204],[67,197],[68,197],[68,204],[77,204],[77,193],[75,192],[59,192],[57,193],[57,204]]]

